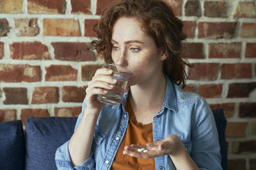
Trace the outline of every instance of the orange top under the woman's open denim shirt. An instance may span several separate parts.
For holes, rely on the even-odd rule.
[[[129,113],[130,118],[124,139],[122,140],[122,143],[120,144],[120,147],[116,153],[116,157],[113,161],[111,170],[156,169],[154,158],[138,159],[136,157],[130,157],[129,155],[123,154],[124,146],[132,144],[145,145],[153,141],[152,123],[142,125],[136,121],[129,99],[127,99],[125,108]]]

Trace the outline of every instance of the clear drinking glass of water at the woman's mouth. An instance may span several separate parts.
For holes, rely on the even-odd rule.
[[[113,73],[110,75],[115,78],[117,81],[113,87],[113,89],[105,89],[108,91],[107,94],[98,94],[97,99],[106,104],[111,105],[119,105],[122,102],[124,96],[124,90],[127,86],[127,82],[131,72],[129,69],[116,65],[116,64],[108,64],[105,63],[103,65],[104,68],[112,69]]]

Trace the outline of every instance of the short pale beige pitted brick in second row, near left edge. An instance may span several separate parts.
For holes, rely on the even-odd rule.
[[[39,32],[36,18],[14,18],[16,36],[35,36]]]

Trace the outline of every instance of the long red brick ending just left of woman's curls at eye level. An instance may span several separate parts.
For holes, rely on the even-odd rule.
[[[90,43],[51,43],[57,60],[93,61]]]

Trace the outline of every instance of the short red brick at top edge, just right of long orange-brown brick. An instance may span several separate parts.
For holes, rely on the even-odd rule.
[[[71,13],[77,14],[92,14],[90,0],[71,0]]]

